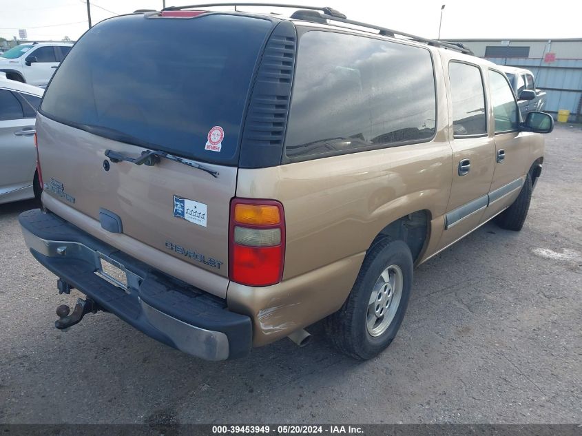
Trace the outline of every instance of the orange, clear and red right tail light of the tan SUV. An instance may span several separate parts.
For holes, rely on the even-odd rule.
[[[285,259],[283,205],[234,198],[229,227],[230,279],[256,287],[280,282]]]

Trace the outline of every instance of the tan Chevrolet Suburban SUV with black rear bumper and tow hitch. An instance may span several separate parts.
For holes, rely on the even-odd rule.
[[[327,317],[340,350],[382,351],[413,267],[495,216],[521,229],[541,172],[552,118],[521,122],[466,51],[331,8],[94,26],[43,97],[43,211],[19,217],[87,296],[57,328],[103,310],[224,360]]]

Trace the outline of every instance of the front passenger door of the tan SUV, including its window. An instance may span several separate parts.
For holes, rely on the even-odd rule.
[[[501,72],[489,70],[488,76],[496,157],[485,219],[515,200],[532,165],[528,145],[532,133],[519,132],[519,110],[511,86]]]

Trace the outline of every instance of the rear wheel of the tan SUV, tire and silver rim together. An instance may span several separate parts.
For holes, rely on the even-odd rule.
[[[377,242],[366,254],[342,309],[326,320],[337,349],[361,360],[386,349],[406,313],[412,278],[408,245],[388,238]]]

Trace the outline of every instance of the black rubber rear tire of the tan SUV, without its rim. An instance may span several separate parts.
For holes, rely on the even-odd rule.
[[[402,271],[402,293],[393,320],[378,336],[368,333],[368,304],[382,271],[396,265]],[[342,309],[326,319],[326,333],[342,353],[355,359],[374,357],[391,344],[406,313],[413,281],[413,258],[405,242],[380,240],[366,253],[351,293]],[[388,310],[388,309],[386,309]]]

